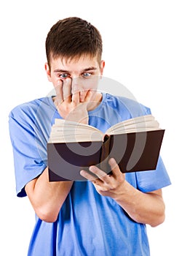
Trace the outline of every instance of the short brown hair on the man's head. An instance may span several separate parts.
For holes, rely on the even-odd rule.
[[[82,18],[70,17],[58,20],[47,34],[46,54],[49,67],[52,58],[73,59],[86,54],[91,57],[97,56],[100,64],[102,51],[100,32]]]

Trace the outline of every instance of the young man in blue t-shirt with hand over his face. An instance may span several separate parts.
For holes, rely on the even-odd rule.
[[[29,256],[150,255],[146,224],[165,219],[162,187],[170,184],[162,159],[157,170],[123,174],[114,159],[112,175],[96,166],[87,181],[49,182],[47,140],[55,118],[90,124],[103,132],[124,119],[150,113],[124,97],[97,91],[103,75],[102,39],[81,18],[59,20],[46,40],[47,77],[55,97],[17,106],[9,114],[17,196],[36,213]]]

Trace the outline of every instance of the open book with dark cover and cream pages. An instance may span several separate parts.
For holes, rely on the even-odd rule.
[[[50,181],[84,181],[79,172],[89,171],[90,165],[111,173],[111,157],[123,173],[154,170],[164,132],[152,115],[121,121],[105,133],[87,124],[55,119],[47,143]]]

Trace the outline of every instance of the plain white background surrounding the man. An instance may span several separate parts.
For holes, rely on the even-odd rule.
[[[163,189],[165,223],[147,228],[151,256],[182,255],[181,13],[181,1],[176,0],[1,1],[0,255],[25,256],[34,224],[28,199],[15,194],[8,114],[15,105],[44,97],[52,89],[44,72],[44,41],[50,27],[68,16],[87,19],[100,30],[104,75],[149,106],[166,129],[162,158],[173,185]]]

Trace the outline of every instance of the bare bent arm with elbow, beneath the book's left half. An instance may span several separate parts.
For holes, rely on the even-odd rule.
[[[46,222],[55,222],[72,184],[73,181],[49,182],[46,168],[39,178],[25,186],[25,191],[37,216]]]

